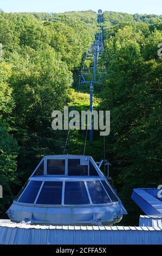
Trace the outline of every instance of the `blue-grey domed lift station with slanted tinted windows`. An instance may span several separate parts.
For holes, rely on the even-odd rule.
[[[7,211],[33,224],[112,225],[126,210],[90,156],[45,156]]]

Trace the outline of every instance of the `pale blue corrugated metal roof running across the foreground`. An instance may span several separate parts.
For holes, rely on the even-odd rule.
[[[141,217],[142,219],[142,217]],[[3,245],[150,245],[162,243],[162,227],[30,225],[0,220]]]

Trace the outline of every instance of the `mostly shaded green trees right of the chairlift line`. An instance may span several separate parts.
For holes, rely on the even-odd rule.
[[[107,155],[128,210],[127,222],[137,224],[140,212],[130,198],[133,188],[157,187],[162,182],[162,58],[157,54],[162,32],[134,21],[112,27],[106,38],[107,82],[102,106],[111,110]]]

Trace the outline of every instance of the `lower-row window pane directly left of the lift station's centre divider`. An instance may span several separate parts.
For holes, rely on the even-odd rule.
[[[62,202],[62,182],[44,182],[40,196],[36,204],[61,204]]]

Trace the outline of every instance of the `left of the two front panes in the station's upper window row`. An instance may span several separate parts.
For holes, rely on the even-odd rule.
[[[49,159],[47,160],[47,175],[64,175],[65,160]]]

